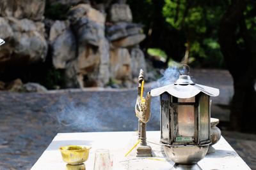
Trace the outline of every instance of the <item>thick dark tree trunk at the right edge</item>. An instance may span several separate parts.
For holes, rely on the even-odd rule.
[[[234,79],[230,127],[235,131],[256,132],[256,43],[246,29],[246,1],[233,0],[220,23],[220,46]],[[243,39],[243,46],[237,39]]]

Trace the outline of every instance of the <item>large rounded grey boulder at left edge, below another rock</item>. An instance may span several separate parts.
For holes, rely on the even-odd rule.
[[[0,18],[0,25],[5,31],[3,38],[6,41],[0,48],[0,63],[12,60],[10,65],[15,63],[22,66],[45,60],[48,45],[42,22],[8,17]]]

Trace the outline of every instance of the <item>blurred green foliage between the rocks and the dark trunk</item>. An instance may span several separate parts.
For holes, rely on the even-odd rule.
[[[144,24],[145,32],[152,32],[146,39],[150,42],[143,43],[143,48],[160,48],[169,62],[181,61],[189,46],[193,66],[224,67],[218,26],[229,1],[143,0],[136,4],[134,1],[128,0],[134,21]]]

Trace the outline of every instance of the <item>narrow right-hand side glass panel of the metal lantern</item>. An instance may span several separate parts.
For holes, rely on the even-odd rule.
[[[202,94],[199,101],[200,107],[200,140],[209,139],[209,96]]]

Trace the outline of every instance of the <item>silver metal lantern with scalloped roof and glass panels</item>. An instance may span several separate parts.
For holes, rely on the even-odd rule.
[[[160,96],[161,143],[166,155],[177,164],[196,164],[211,144],[210,96],[218,89],[194,83],[187,73],[171,84],[151,90]]]

